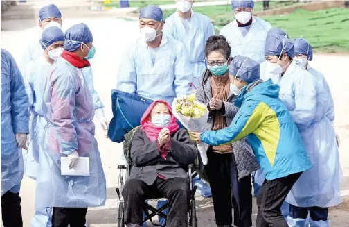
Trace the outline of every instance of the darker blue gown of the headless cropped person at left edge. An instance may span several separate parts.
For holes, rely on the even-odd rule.
[[[18,193],[23,157],[16,133],[29,133],[28,96],[15,59],[1,49],[1,196]]]

